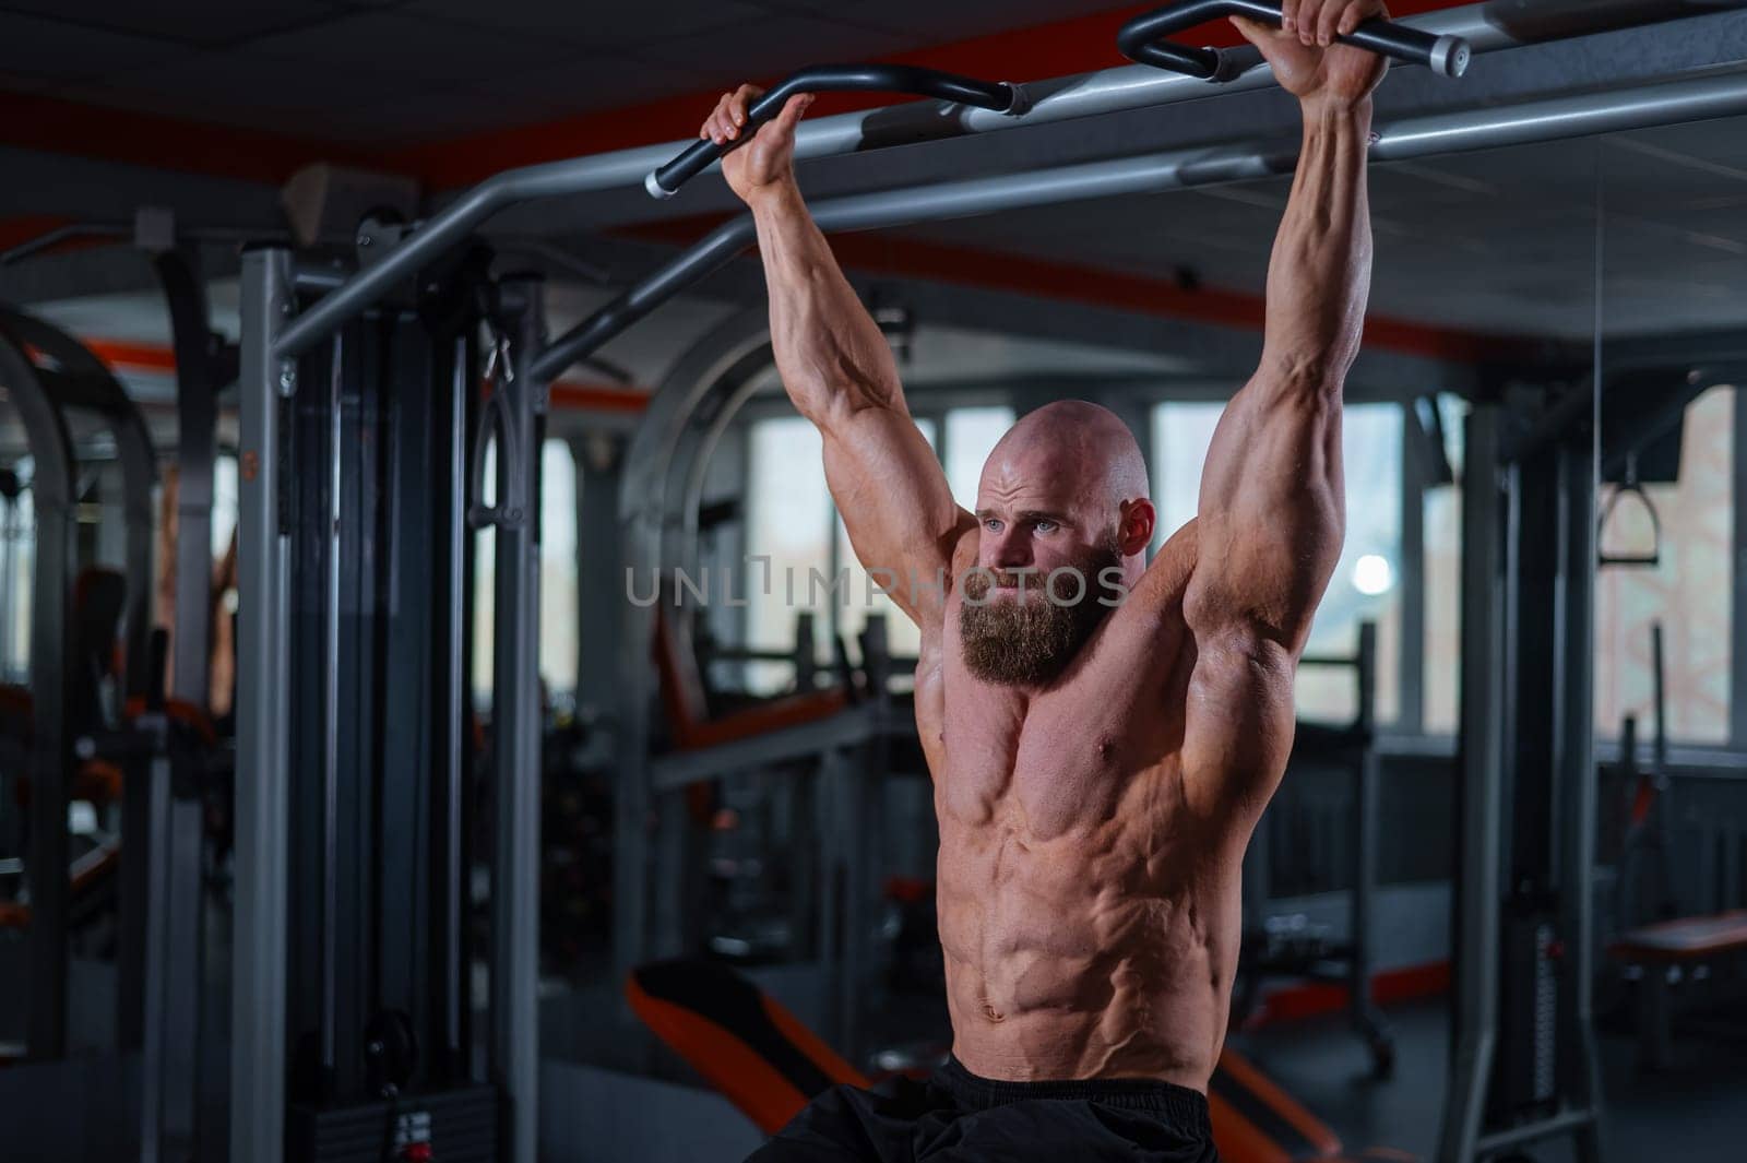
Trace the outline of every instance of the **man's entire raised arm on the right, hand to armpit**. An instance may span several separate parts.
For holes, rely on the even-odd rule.
[[[1183,595],[1197,651],[1184,763],[1265,781],[1263,802],[1291,747],[1293,665],[1345,536],[1342,386],[1370,293],[1370,93],[1385,68],[1328,47],[1380,16],[1380,0],[1286,10],[1291,30],[1239,23],[1300,98],[1303,150],[1268,267],[1261,365],[1214,430]]]

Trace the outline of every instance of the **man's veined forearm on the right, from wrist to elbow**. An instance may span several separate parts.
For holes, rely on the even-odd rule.
[[[1359,353],[1371,285],[1371,101],[1307,101],[1305,143],[1268,265],[1265,367],[1338,388]]]

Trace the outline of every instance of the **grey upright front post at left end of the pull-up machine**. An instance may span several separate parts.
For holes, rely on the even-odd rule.
[[[280,437],[297,374],[274,358],[273,341],[292,309],[290,251],[245,251],[229,1158],[250,1163],[280,1163],[285,1149],[290,536],[280,526],[280,477],[288,468],[280,463]]]

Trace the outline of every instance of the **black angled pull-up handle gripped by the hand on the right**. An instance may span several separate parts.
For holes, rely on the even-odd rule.
[[[1242,65],[1232,54],[1165,40],[1184,28],[1226,16],[1246,16],[1261,24],[1281,26],[1279,0],[1181,0],[1123,24],[1116,33],[1116,47],[1136,65],[1169,68],[1202,80],[1235,80]],[[1440,77],[1460,77],[1473,56],[1473,47],[1460,37],[1438,37],[1389,21],[1364,21],[1336,40],[1408,65],[1424,65]]]

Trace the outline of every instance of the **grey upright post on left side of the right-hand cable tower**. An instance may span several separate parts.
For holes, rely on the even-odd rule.
[[[1499,1004],[1499,845],[1504,795],[1501,407],[1476,403],[1462,468],[1462,751],[1455,910],[1455,1030],[1440,1163],[1469,1163],[1485,1123]]]

